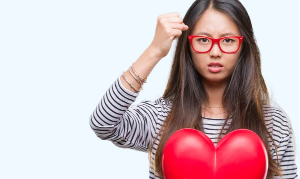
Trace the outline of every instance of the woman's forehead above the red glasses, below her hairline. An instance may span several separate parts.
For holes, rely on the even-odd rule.
[[[224,33],[241,35],[238,26],[227,14],[213,9],[203,12],[197,20],[191,35],[200,35],[202,32],[211,34],[213,38],[218,38]]]

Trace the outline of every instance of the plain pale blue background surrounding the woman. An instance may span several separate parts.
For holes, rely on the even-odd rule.
[[[241,1],[268,89],[299,143],[300,1]],[[88,118],[150,44],[157,16],[176,11],[183,17],[192,2],[1,0],[0,178],[148,178],[147,154],[98,139]],[[174,45],[134,103],[162,95],[173,50]]]

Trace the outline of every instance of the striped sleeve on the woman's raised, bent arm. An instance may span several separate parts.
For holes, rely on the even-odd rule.
[[[131,105],[139,92],[127,90],[120,76],[110,85],[89,117],[96,136],[120,148],[147,152],[155,132],[158,111],[154,102]]]

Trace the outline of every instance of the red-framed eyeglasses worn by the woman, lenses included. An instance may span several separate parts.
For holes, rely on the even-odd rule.
[[[234,53],[239,47],[243,40],[243,36],[227,36],[221,38],[210,38],[199,35],[188,35],[191,47],[198,53],[206,53],[211,50],[214,43],[218,44],[220,50],[224,53]]]

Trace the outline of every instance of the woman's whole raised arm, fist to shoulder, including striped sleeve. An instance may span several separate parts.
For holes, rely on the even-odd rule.
[[[150,46],[132,64],[137,74],[147,78],[158,61],[167,55],[173,39],[179,37],[182,30],[188,29],[182,21],[177,12],[158,16]],[[128,70],[124,75],[135,89],[140,88],[141,84]],[[160,100],[155,100],[156,103],[144,100],[129,108],[138,94],[123,76],[109,87],[89,117],[90,127],[100,139],[122,148],[148,150],[157,125],[157,115],[161,116],[159,113],[163,111],[157,104]]]

